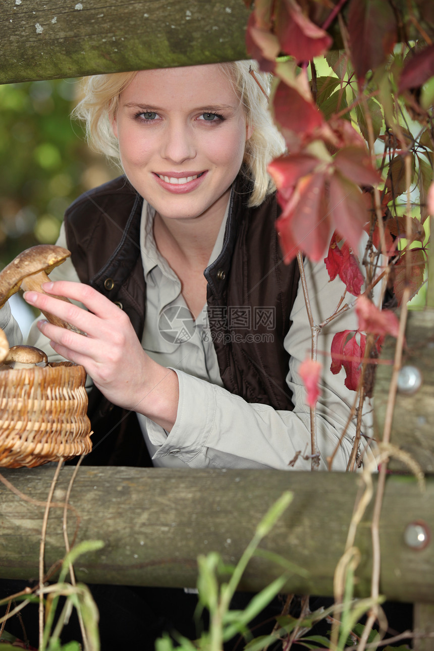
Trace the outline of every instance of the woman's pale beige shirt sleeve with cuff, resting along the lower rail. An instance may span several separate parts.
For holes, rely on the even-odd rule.
[[[316,264],[306,260],[305,270],[314,322],[319,324],[334,312],[345,286],[338,278],[329,281],[322,260]],[[349,294],[346,299],[344,304],[355,301]],[[175,455],[189,467],[310,469],[310,409],[298,374],[301,361],[310,357],[310,326],[301,286],[291,318],[293,324],[284,346],[291,356],[287,383],[293,394],[293,411],[249,404],[226,389],[174,369],[180,385],[178,413],[174,427],[164,437],[155,458]],[[332,337],[346,329],[357,330],[354,309],[323,327],[318,338],[318,361],[323,364],[316,432],[320,469],[328,467],[327,458],[332,454],[332,469],[346,469],[356,431],[353,419],[340,442],[356,393],[345,387],[343,369],[337,375],[330,370]],[[363,419],[364,437],[360,447],[366,462],[373,460],[368,445],[371,436],[369,404],[365,411],[368,413]],[[162,440],[160,438],[159,442]]]

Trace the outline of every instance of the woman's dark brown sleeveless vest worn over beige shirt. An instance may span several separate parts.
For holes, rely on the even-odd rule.
[[[293,404],[286,385],[289,355],[283,342],[291,326],[299,270],[296,260],[289,265],[282,262],[275,229],[275,196],[268,197],[257,208],[247,207],[248,197],[249,187],[238,178],[223,250],[205,271],[211,336],[221,379],[228,391],[247,402],[291,410]],[[68,249],[79,279],[118,303],[140,339],[146,313],[146,283],[139,247],[141,210],[142,198],[122,176],[81,195],[68,208],[64,220]],[[95,389],[89,403],[96,433],[90,463],[96,465],[95,441],[98,435],[106,436],[107,426],[116,432],[124,430],[128,449],[131,448],[131,419],[126,412],[115,415],[113,406]],[[116,419],[122,422],[115,422]],[[113,441],[113,436],[110,439]],[[142,443],[140,434],[139,440]],[[109,444],[109,448],[118,450],[119,445]],[[134,452],[131,462],[126,463],[125,456],[116,451],[105,454],[101,463],[143,463],[136,461]],[[145,463],[149,464],[149,459]]]

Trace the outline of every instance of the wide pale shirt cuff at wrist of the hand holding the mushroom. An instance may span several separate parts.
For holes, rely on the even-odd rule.
[[[178,376],[180,397],[176,421],[154,459],[174,454],[185,464],[195,466],[215,422],[215,391],[212,384],[172,368]],[[203,460],[200,465],[203,464]]]

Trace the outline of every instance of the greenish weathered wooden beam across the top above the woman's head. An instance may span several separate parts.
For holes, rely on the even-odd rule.
[[[4,0],[0,83],[246,59],[241,0]]]

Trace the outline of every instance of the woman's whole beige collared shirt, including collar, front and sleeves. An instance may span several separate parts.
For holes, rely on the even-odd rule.
[[[310,326],[303,292],[299,292],[292,311],[293,325],[284,340],[290,353],[287,383],[293,394],[293,411],[277,411],[264,404],[249,404],[223,388],[217,358],[206,318],[206,306],[193,321],[181,294],[181,283],[167,261],[159,254],[152,232],[154,210],[144,202],[141,222],[141,252],[146,278],[146,322],[142,335],[144,350],[161,365],[178,375],[180,398],[174,427],[168,434],[150,419],[138,415],[154,465],[191,468],[277,468],[310,469],[310,410],[305,389],[297,373],[301,361],[310,356]],[[224,238],[223,221],[210,262],[219,255]],[[66,246],[62,227],[59,240]],[[305,262],[308,292],[315,322],[329,317],[344,294],[344,284],[329,282],[324,262]],[[55,268],[52,280],[79,282],[71,260]],[[347,295],[347,301],[354,300]],[[353,309],[323,328],[318,339],[318,360],[323,374],[318,401],[317,443],[321,469],[333,454],[356,394],[344,386],[345,374],[330,372],[331,340],[336,332],[357,329]],[[33,325],[29,343],[46,350],[50,359],[61,359],[49,347],[46,337]],[[370,406],[365,409],[363,433],[370,436]],[[332,469],[345,470],[355,436],[351,422],[334,457]],[[366,441],[362,439],[362,449]],[[295,464],[288,465],[292,460]],[[372,460],[372,452],[366,450]]]

